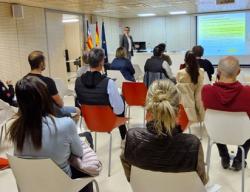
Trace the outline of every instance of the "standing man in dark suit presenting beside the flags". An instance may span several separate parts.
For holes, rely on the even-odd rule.
[[[128,59],[131,60],[131,56],[134,56],[134,52],[133,52],[134,42],[133,42],[132,36],[129,35],[129,32],[130,32],[130,28],[125,27],[124,34],[121,37],[120,46],[124,47],[127,50]]]

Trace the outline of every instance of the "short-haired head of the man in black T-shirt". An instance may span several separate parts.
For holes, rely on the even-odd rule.
[[[40,68],[41,65],[44,65],[45,57],[42,51],[32,51],[28,56],[28,61],[31,67],[31,70]]]

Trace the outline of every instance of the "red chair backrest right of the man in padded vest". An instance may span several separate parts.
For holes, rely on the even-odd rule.
[[[123,82],[122,95],[130,106],[144,106],[147,96],[147,87],[144,83]]]

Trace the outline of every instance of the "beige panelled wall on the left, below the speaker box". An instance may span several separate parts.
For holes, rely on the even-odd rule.
[[[50,10],[28,6],[23,6],[23,10],[24,18],[16,19],[11,4],[0,3],[0,79],[15,83],[30,71],[28,54],[41,50],[47,64],[44,74],[66,81],[62,14],[47,14],[46,24],[45,12]]]

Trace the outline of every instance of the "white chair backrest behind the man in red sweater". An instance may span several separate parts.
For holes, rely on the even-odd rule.
[[[250,121],[246,112],[227,112],[207,109],[205,126],[216,143],[242,145],[250,139]]]

